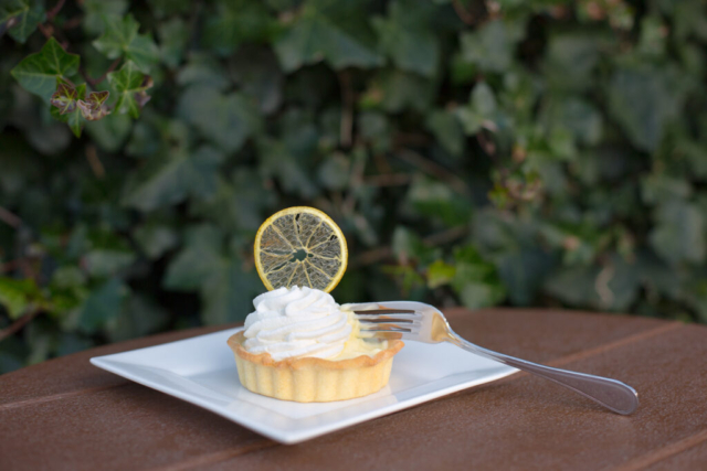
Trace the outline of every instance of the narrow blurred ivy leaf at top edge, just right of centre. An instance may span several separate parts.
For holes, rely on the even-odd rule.
[[[401,69],[431,77],[440,63],[437,36],[429,25],[434,6],[426,0],[398,0],[388,18],[374,18],[381,49]]]

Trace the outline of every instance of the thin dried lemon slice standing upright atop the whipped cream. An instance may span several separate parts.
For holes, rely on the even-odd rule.
[[[295,206],[267,218],[255,235],[255,267],[268,290],[309,287],[329,292],[348,263],[346,238],[319,210]]]

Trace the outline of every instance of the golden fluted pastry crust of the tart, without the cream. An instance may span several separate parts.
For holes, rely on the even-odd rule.
[[[241,384],[253,393],[298,403],[326,403],[367,396],[388,384],[401,340],[374,356],[331,361],[314,357],[274,361],[270,353],[253,354],[243,347],[243,331],[229,340]]]

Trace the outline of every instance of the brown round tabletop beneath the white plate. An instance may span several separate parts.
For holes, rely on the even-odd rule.
[[[224,327],[203,328],[0,376],[0,469],[707,469],[707,328],[571,311],[446,314],[484,346],[624,381],[641,406],[614,415],[518,373],[283,446],[88,363]]]

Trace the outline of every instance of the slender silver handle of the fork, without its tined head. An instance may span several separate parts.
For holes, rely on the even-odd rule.
[[[537,363],[484,349],[460,338],[458,335],[451,336],[450,341],[464,350],[476,353],[477,355],[513,366],[514,368],[523,370],[524,372],[538,375],[546,379],[550,379],[551,382],[592,399],[594,403],[600,404],[616,414],[629,415],[639,407],[639,393],[620,381],[539,365]]]

